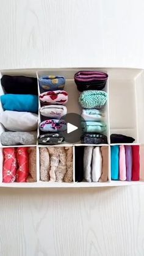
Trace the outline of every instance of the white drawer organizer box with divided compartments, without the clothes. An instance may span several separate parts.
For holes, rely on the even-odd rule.
[[[62,144],[61,146],[73,147],[73,182],[58,183],[40,181],[40,161],[39,148],[47,145],[25,145],[25,147],[37,147],[37,182],[35,183],[2,183],[2,146],[0,154],[0,186],[1,187],[18,187],[18,188],[81,188],[81,187],[99,187],[99,186],[124,186],[124,185],[144,185],[144,71],[133,68],[48,68],[44,70],[2,70],[2,75],[22,75],[33,76],[37,79],[41,75],[63,75],[66,78],[65,90],[68,92],[68,103],[66,104],[68,112],[81,114],[81,106],[78,103],[79,92],[74,83],[74,74],[79,70],[98,70],[108,73],[106,90],[108,92],[108,100],[106,106],[106,122],[107,122],[107,139],[109,147],[109,175],[106,183],[100,182],[75,182],[74,178],[74,149],[80,145],[88,146],[88,144]],[[39,87],[39,86],[38,86]],[[1,88],[1,87],[0,87]],[[1,95],[4,94],[1,89]],[[40,108],[40,103],[39,103]],[[3,111],[1,106],[1,111]],[[38,114],[39,115],[39,114]],[[40,115],[38,116],[38,124],[40,123]],[[0,132],[4,129],[1,126]],[[140,145],[140,181],[113,181],[110,175],[110,134],[118,133],[135,138],[135,142],[128,145]],[[38,131],[39,135],[39,131]],[[106,145],[107,144],[103,144]],[[117,144],[121,145],[121,144]],[[126,144],[124,144],[126,145]],[[60,145],[59,145],[60,146]],[[97,146],[97,145],[94,145]],[[101,145],[99,145],[101,146]],[[13,146],[12,146],[13,147]],[[21,147],[14,146],[14,147]],[[51,147],[48,145],[48,147]],[[53,147],[53,146],[52,146]],[[55,146],[57,147],[57,145]]]

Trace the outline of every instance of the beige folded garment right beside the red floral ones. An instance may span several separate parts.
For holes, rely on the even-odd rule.
[[[35,147],[29,147],[29,175],[26,179],[27,182],[37,181],[37,149]]]

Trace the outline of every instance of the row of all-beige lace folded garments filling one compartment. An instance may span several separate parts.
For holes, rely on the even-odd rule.
[[[73,148],[40,148],[40,180],[53,182],[72,182]]]

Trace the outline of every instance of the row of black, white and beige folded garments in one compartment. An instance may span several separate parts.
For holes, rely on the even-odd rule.
[[[75,147],[75,179],[81,182],[108,180],[108,147]]]

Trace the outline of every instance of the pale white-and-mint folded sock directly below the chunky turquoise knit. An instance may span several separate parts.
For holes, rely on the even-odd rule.
[[[104,112],[98,109],[82,109],[82,118],[85,121],[103,121]]]

